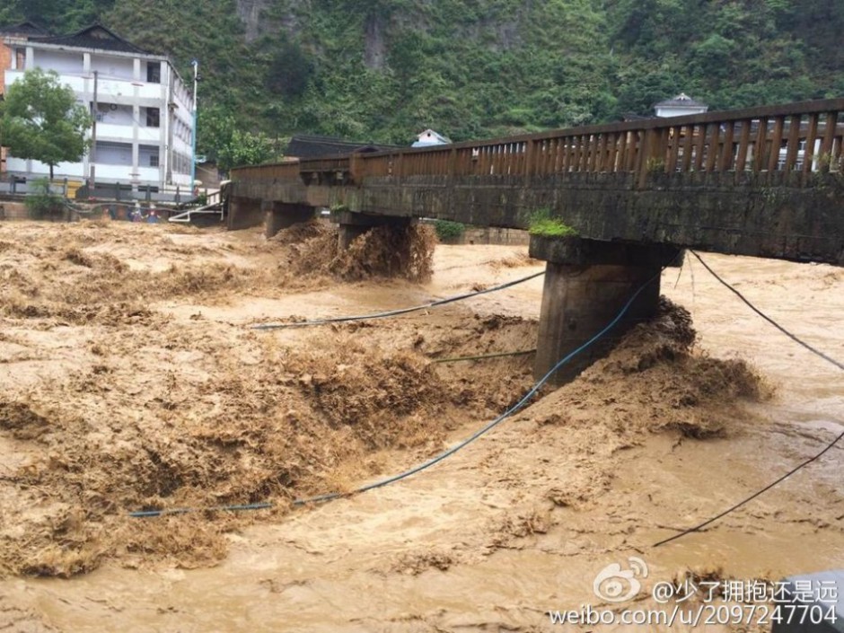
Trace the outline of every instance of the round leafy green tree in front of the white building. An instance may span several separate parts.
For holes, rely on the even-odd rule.
[[[2,115],[0,137],[9,154],[48,164],[50,179],[58,163],[80,160],[91,144],[91,116],[55,71],[24,73],[6,92]]]

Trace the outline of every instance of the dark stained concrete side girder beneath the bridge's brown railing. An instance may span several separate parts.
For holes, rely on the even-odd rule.
[[[591,240],[844,265],[844,176],[810,178],[802,187],[799,173],[658,173],[637,189],[628,173],[425,176],[371,179],[333,197],[353,211],[506,228],[526,228],[532,211],[548,208]]]

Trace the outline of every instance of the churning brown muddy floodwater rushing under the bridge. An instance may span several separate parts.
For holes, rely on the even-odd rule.
[[[575,382],[409,479],[295,505],[425,462],[532,385],[530,354],[435,361],[535,347],[541,277],[390,320],[251,329],[543,269],[526,247],[438,245],[431,257],[425,236],[409,251],[384,237],[376,260],[332,239],[324,226],[267,241],[0,224],[0,630],[668,630],[564,627],[549,611],[659,610],[667,582],[844,567],[844,444],[653,547],[844,430],[840,369],[691,257],[664,272],[655,322]],[[844,269],[701,255],[844,360]],[[174,508],[196,511],[128,515]],[[639,585],[627,602],[596,581],[612,564]],[[769,630],[750,620],[708,629]]]

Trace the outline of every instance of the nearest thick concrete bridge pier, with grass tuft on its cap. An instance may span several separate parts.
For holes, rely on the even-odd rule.
[[[610,323],[647,283],[620,322],[603,338],[558,369],[549,379],[565,384],[606,356],[626,330],[655,315],[660,268],[681,260],[673,247],[580,238],[532,236],[531,256],[546,263],[539,337],[533,375],[539,379],[558,361]],[[673,260],[673,261],[672,261]],[[649,282],[649,283],[648,283]]]

